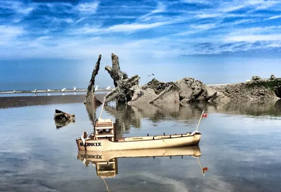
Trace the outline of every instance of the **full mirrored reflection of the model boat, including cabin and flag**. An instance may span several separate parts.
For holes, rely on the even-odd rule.
[[[129,158],[129,157],[139,157],[139,158],[154,157],[155,158],[155,157],[167,157],[167,156],[170,158],[172,158],[172,156],[182,156],[182,158],[183,156],[193,156],[197,158],[203,175],[208,170],[207,167],[203,168],[199,161],[199,157],[201,156],[201,151],[199,146],[120,150],[120,151],[78,150],[77,159],[83,161],[86,167],[88,167],[90,163],[93,166],[95,166],[97,176],[104,180],[105,177],[115,177],[118,174],[118,161],[117,161],[118,158]]]

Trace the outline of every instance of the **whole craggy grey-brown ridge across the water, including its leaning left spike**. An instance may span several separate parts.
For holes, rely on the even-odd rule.
[[[101,55],[96,63],[88,87],[85,103],[97,102],[94,95],[94,79],[98,73]],[[113,79],[115,88],[105,96],[105,103],[134,104],[169,104],[208,102],[226,104],[230,101],[275,101],[281,97],[281,79],[271,75],[268,79],[252,76],[246,82],[210,87],[200,80],[185,77],[177,81],[161,82],[153,79],[145,85],[139,85],[139,76],[128,77],[120,70],[118,56],[111,54],[112,67],[105,66],[105,70]],[[100,102],[99,102],[100,104]]]

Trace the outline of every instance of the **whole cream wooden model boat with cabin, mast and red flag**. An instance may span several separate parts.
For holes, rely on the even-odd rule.
[[[104,106],[104,102],[103,102]],[[102,109],[103,109],[102,106]],[[198,126],[202,117],[207,117],[204,111],[201,114],[199,123],[194,132],[173,135],[155,135],[140,137],[122,137],[116,138],[116,126],[111,119],[102,119],[102,109],[100,117],[94,122],[94,133],[88,136],[86,131],[76,139],[79,150],[85,151],[112,151],[129,149],[150,149],[167,148],[198,145],[201,139],[201,133],[198,132]]]

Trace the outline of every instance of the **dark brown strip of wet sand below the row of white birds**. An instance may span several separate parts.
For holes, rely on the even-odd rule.
[[[99,101],[103,100],[105,94],[96,94]],[[26,107],[51,104],[82,103],[85,94],[74,95],[50,95],[50,96],[25,96],[25,97],[0,97],[0,109]]]

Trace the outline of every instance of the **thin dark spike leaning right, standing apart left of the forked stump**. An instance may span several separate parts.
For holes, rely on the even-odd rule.
[[[100,60],[101,60],[101,55],[98,56],[98,60],[96,62],[95,68],[93,70],[92,77],[91,77],[91,80],[90,80],[90,83],[89,83],[89,86],[88,86],[88,90],[87,90],[87,94],[86,94],[84,104],[93,104],[93,103],[101,104],[101,102],[96,99],[95,94],[94,94],[94,92],[95,92],[95,87],[94,87],[95,77],[98,74]]]

